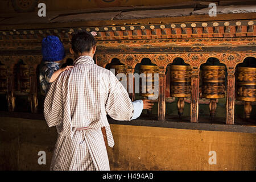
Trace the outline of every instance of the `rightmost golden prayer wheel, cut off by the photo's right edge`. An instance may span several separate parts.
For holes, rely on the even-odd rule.
[[[245,118],[249,119],[253,109],[251,102],[256,101],[256,68],[238,67],[236,99],[245,101]]]

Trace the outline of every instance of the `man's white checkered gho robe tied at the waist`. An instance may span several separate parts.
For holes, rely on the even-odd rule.
[[[90,56],[79,57],[73,65],[52,82],[44,101],[46,122],[59,133],[51,170],[109,170],[101,127],[106,127],[108,144],[113,147],[106,114],[129,121],[133,105],[114,74],[94,64]]]

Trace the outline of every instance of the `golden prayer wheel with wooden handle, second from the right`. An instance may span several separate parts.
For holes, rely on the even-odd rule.
[[[210,117],[214,117],[217,98],[225,97],[225,66],[205,65],[202,72],[202,97],[210,99]]]

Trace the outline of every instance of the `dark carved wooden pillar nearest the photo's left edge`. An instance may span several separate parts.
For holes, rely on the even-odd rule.
[[[9,105],[9,111],[13,112],[15,108],[14,65],[7,67],[7,100]]]

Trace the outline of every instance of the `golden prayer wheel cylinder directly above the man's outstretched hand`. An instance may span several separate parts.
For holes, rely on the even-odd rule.
[[[158,67],[155,65],[141,65],[139,73],[140,75],[144,73],[144,80],[146,79],[146,84],[142,85],[143,78],[141,79],[141,81],[139,81],[140,96],[143,96],[145,98],[155,96],[154,91],[159,89],[159,88],[155,88],[155,85],[154,85],[154,82],[155,82],[154,73],[157,73],[157,71],[158,71]],[[149,74],[151,74],[151,76]],[[146,90],[146,93],[142,93],[143,90]]]

